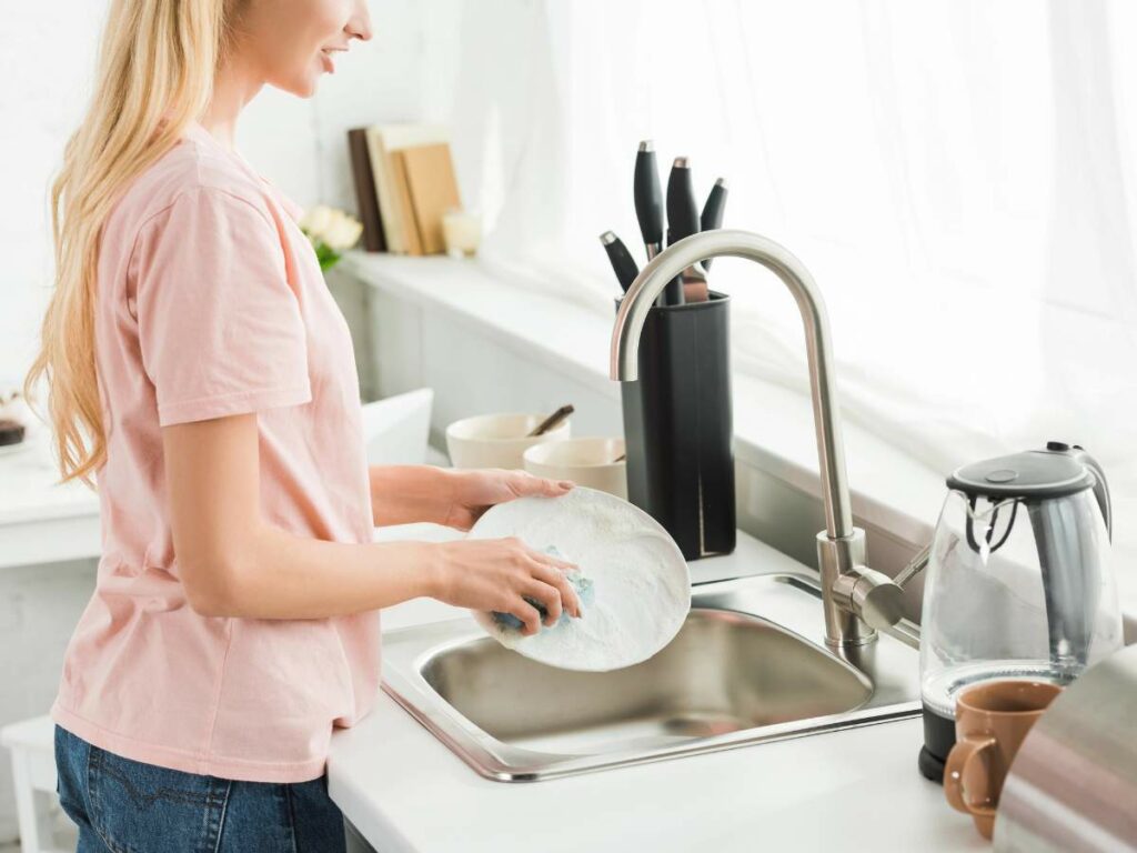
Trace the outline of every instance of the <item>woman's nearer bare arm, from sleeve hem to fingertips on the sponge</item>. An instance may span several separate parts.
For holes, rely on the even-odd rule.
[[[537,598],[555,624],[580,604],[571,564],[513,539],[330,543],[289,533],[260,516],[255,414],[163,428],[171,524],[190,606],[205,615],[319,619],[430,596],[514,613],[539,630]],[[555,618],[554,618],[555,613]]]

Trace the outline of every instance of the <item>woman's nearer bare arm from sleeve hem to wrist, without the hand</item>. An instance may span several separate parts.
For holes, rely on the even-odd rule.
[[[332,543],[260,512],[256,415],[163,430],[174,550],[205,615],[319,619],[432,595],[438,546]]]

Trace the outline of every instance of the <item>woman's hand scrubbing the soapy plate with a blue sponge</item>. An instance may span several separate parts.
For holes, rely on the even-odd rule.
[[[545,623],[553,627],[562,611],[580,618],[580,599],[564,571],[575,569],[549,554],[533,550],[517,538],[462,539],[435,546],[434,593],[431,597],[470,610],[512,613],[531,636],[541,614],[525,597],[545,605]]]

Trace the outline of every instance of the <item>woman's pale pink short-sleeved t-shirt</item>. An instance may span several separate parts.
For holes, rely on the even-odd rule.
[[[51,717],[135,761],[314,779],[332,727],[352,726],[375,699],[377,611],[201,616],[171,538],[160,428],[256,412],[263,516],[299,536],[371,540],[351,339],[298,213],[194,124],[103,230],[102,557]]]

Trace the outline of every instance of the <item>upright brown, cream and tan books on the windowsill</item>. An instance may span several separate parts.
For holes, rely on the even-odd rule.
[[[449,131],[384,124],[348,131],[363,242],[367,251],[446,251],[442,215],[460,209]]]

